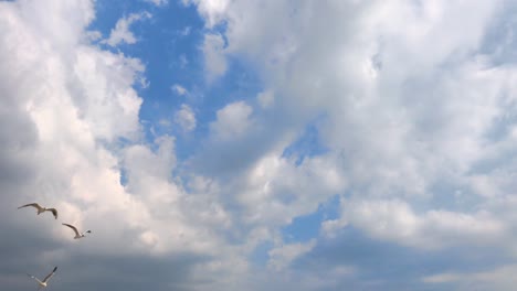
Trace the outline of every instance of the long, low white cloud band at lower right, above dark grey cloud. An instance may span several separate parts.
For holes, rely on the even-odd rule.
[[[507,231],[505,223],[486,212],[433,209],[419,215],[402,201],[344,202],[342,213],[342,219],[376,238],[424,249],[495,245]]]

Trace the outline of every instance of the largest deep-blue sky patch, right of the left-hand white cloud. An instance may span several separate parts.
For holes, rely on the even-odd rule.
[[[144,98],[139,117],[148,142],[156,137],[176,137],[176,154],[180,160],[196,152],[199,141],[209,131],[210,122],[217,118],[217,110],[225,105],[255,98],[261,91],[261,82],[253,68],[239,58],[229,58],[226,72],[208,83],[202,53],[204,23],[194,6],[183,6],[169,1],[157,8],[144,1],[97,1],[97,19],[91,30],[99,31],[108,39],[110,31],[120,18],[147,11],[151,19],[134,22],[129,30],[138,40],[135,44],[120,43],[116,47],[101,44],[103,48],[122,52],[126,56],[139,58],[146,66],[145,77],[148,87],[136,86]],[[222,23],[210,32],[221,33]],[[223,34],[221,34],[223,35]],[[181,86],[186,93],[175,90]],[[175,125],[175,112],[188,105],[196,115],[196,128],[183,134]]]

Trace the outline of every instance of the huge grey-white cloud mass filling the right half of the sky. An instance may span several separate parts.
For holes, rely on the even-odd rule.
[[[502,47],[495,50],[489,39],[507,23],[498,18],[502,1],[186,2],[198,6],[209,28],[224,24],[223,55],[254,64],[274,91],[274,98],[268,91],[256,97],[267,110],[253,108],[246,127],[254,137],[232,136],[240,144],[256,136],[270,144],[253,143],[252,154],[240,155],[246,171],[323,116],[317,134],[328,151],[320,159],[347,182],[336,187],[342,206],[323,224],[324,234],[337,238],[357,228],[415,249],[476,245],[513,254],[515,217],[504,204],[515,203],[509,144],[516,71],[499,65]],[[212,32],[205,37],[214,39]],[[205,57],[213,52],[205,50]],[[265,125],[270,130],[261,131]],[[252,191],[252,184],[241,184],[240,200],[261,205],[282,193],[272,185],[264,181]],[[262,214],[246,209],[260,220]],[[287,218],[303,212],[278,213]]]

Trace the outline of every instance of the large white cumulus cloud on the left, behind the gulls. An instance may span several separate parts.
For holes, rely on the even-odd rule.
[[[154,255],[168,254],[165,265],[184,263],[177,279],[186,279],[196,263],[209,263],[217,255],[212,251],[223,249],[214,224],[226,219],[225,211],[204,193],[187,196],[171,175],[177,168],[173,138],[143,139],[143,99],[134,87],[145,66],[89,43],[85,36],[93,2],[2,2],[0,13],[0,31],[9,40],[0,44],[0,188],[2,204],[14,209],[2,212],[0,219],[1,236],[10,237],[0,244],[2,278],[41,272],[49,265],[66,269],[75,260],[83,263],[62,287],[75,280],[89,282],[86,289],[104,290],[119,274],[99,270],[141,263]],[[70,229],[54,219],[15,211],[33,201],[56,207],[62,222],[92,229],[95,236],[77,245]],[[191,213],[197,207],[199,212]],[[198,219],[198,214],[208,218]],[[202,222],[207,228],[194,226]],[[224,258],[219,261],[226,263]],[[129,269],[125,277],[137,270]],[[141,281],[156,279],[146,277]],[[184,282],[170,280],[163,277],[157,290]],[[23,290],[23,282],[8,285]],[[54,283],[60,287],[60,280]]]

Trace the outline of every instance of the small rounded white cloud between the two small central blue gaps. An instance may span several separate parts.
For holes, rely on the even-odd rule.
[[[240,180],[239,202],[244,222],[277,227],[317,209],[346,186],[330,159],[306,158],[300,164],[270,153],[254,163]]]

